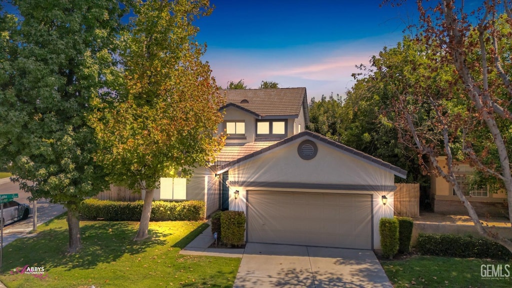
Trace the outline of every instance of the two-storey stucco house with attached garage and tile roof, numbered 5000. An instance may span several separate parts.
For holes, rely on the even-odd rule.
[[[306,88],[223,92],[219,130],[228,136],[217,161],[186,184],[162,179],[155,198],[204,200],[206,216],[244,211],[250,242],[380,249],[394,176],[407,172],[304,131]]]

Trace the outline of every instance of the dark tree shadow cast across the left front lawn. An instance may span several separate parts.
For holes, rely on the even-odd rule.
[[[2,271],[35,263],[45,268],[65,268],[67,271],[90,269],[99,263],[116,261],[125,254],[135,255],[165,245],[165,237],[172,235],[150,229],[149,238],[136,242],[133,240],[136,232],[136,225],[130,222],[93,222],[84,225],[80,227],[82,248],[78,253],[68,255],[67,229],[41,231],[32,239],[9,244],[9,250],[16,251],[16,255],[6,259],[11,261],[4,262]]]

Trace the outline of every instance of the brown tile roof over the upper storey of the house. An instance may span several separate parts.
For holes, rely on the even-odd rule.
[[[271,116],[296,116],[301,113],[301,108],[306,109],[307,115],[306,88],[279,88],[279,89],[227,89],[221,90],[226,93],[226,108],[229,104],[243,107],[255,115],[261,117]],[[244,100],[244,101],[242,101]],[[232,105],[231,105],[232,106]]]

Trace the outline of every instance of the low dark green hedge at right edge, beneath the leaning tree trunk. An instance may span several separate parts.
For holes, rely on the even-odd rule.
[[[512,253],[499,243],[486,238],[454,234],[420,233],[416,242],[416,249],[422,255],[496,260],[512,259]]]

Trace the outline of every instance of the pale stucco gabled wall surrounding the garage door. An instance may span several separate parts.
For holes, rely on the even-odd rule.
[[[315,141],[318,153],[311,160],[303,160],[297,154],[297,147],[305,139]],[[380,249],[378,223],[382,217],[393,217],[393,192],[382,191],[343,191],[322,189],[287,189],[250,187],[247,182],[294,182],[318,184],[358,184],[358,185],[394,185],[394,175],[372,164],[331,148],[323,142],[304,137],[288,143],[270,152],[242,162],[229,170],[229,209],[246,212],[247,191],[300,191],[312,193],[352,193],[373,195],[373,243],[374,249]],[[234,199],[234,191],[240,196]],[[388,197],[383,205],[381,196]]]

